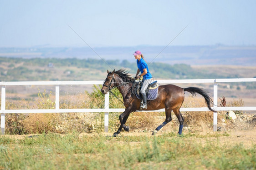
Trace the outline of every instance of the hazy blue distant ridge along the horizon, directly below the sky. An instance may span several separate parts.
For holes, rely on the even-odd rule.
[[[136,47],[32,47],[0,48],[1,57],[76,58],[127,60],[135,62],[133,52],[141,50],[148,63],[187,65],[256,65],[256,46],[136,46]],[[163,51],[162,51],[163,50]],[[162,52],[161,52],[162,51]]]

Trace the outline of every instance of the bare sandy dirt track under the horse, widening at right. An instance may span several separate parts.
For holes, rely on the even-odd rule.
[[[162,121],[159,120],[159,122]],[[173,120],[169,124],[165,125],[156,136],[163,135],[164,133],[169,132],[178,132],[178,121]],[[153,125],[154,127],[154,125]],[[152,130],[153,130],[152,127]],[[193,141],[198,142],[202,145],[209,144],[212,142],[218,142],[220,145],[234,146],[243,144],[245,147],[253,147],[256,145],[256,114],[252,115],[237,115],[236,120],[225,120],[225,122],[218,122],[218,131],[213,132],[213,127],[207,126],[205,123],[199,124],[196,127],[184,127],[183,134],[195,133],[200,135],[213,135],[214,133],[219,133],[219,137],[188,137],[182,138],[184,141]],[[225,135],[221,135],[225,134]],[[228,134],[228,135],[226,135]],[[94,136],[94,135],[103,135],[103,136],[112,136],[113,132],[102,132],[102,133],[81,133],[80,137]],[[25,139],[36,137],[38,134],[29,134],[29,135],[5,135],[6,137],[10,137],[12,139]],[[121,137],[125,136],[152,136],[151,130],[148,129],[133,129],[130,128],[130,132],[122,132],[119,134]],[[178,136],[174,136],[174,138],[178,138]]]

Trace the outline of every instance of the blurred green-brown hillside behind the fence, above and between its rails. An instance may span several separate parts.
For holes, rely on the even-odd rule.
[[[149,62],[148,62],[149,64]],[[128,60],[101,60],[101,59],[77,59],[77,58],[19,58],[0,57],[0,81],[86,81],[104,80],[107,69],[126,69],[131,76],[135,76],[137,65]],[[170,79],[216,79],[216,78],[253,78],[256,77],[255,66],[238,65],[186,65],[161,62],[152,62],[149,65],[154,80]],[[181,87],[195,86],[203,87],[212,91],[213,84],[184,84]],[[52,91],[52,86],[8,86],[7,93],[19,100],[22,93],[28,100],[34,100],[31,96],[37,96],[38,89],[46,88]],[[88,86],[61,86],[62,93],[66,94],[73,89],[72,93],[78,91],[92,91]],[[29,90],[29,92],[28,92]],[[220,83],[218,84],[219,97],[243,97],[249,98],[250,105],[255,104],[256,82]],[[70,91],[71,93],[71,91]],[[254,99],[253,99],[254,97]]]

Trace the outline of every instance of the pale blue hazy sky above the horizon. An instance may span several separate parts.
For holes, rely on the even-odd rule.
[[[188,25],[188,26],[187,26]],[[0,47],[256,45],[256,0],[0,0]]]

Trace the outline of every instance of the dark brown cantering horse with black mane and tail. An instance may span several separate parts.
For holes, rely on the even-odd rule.
[[[134,88],[134,79],[133,77],[128,75],[127,70],[115,70],[116,69],[114,69],[112,72],[107,70],[108,75],[103,82],[101,92],[102,94],[107,94],[108,91],[111,92],[113,88],[118,88],[119,92],[123,96],[125,111],[121,115],[119,115],[121,125],[118,128],[117,132],[113,134],[114,137],[117,137],[122,129],[124,129],[125,131],[129,131],[129,126],[126,126],[125,123],[132,112],[140,111],[141,100],[138,99],[136,95],[132,92],[132,88]],[[159,110],[164,108],[165,121],[153,131],[152,135],[156,135],[156,133],[162,127],[164,127],[164,125],[172,120],[172,110],[179,120],[178,134],[182,134],[184,118],[181,115],[179,109],[184,102],[185,91],[191,93],[192,96],[195,96],[196,94],[202,95],[205,98],[205,103],[208,109],[211,111],[215,111],[211,108],[211,104],[213,105],[212,99],[203,89],[197,87],[181,88],[179,86],[171,84],[159,85],[156,99],[147,101],[148,108],[146,110]]]

